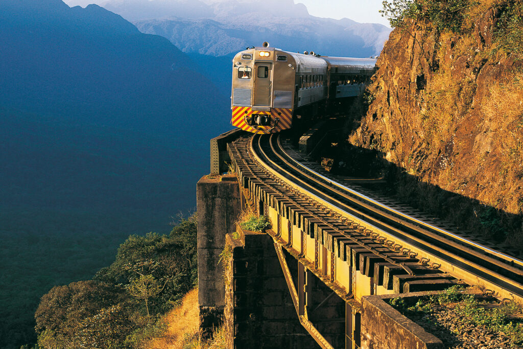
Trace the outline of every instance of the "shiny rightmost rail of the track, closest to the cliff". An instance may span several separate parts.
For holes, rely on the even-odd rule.
[[[393,209],[392,207],[390,206],[387,206],[385,204],[382,204],[381,202],[379,201],[376,201],[372,198],[369,198],[368,196],[364,195],[364,194],[361,194],[361,193],[358,193],[356,190],[354,189],[351,189],[347,186],[344,186],[343,184],[340,184],[336,181],[333,181],[331,178],[328,178],[328,177],[325,177],[324,175],[320,174],[320,173],[317,173],[316,171],[312,170],[312,168],[308,167],[308,166],[305,166],[304,164],[302,164],[301,162],[297,161],[296,159],[294,159],[291,155],[289,155],[289,153],[285,150],[285,148],[282,147],[281,143],[280,143],[280,138],[278,137],[278,145],[281,149],[281,151],[283,153],[285,153],[286,157],[291,160],[292,162],[294,162],[295,164],[297,164],[298,166],[302,167],[305,171],[309,172],[309,173],[312,173],[314,174],[316,177],[319,177],[321,179],[323,179],[323,181],[327,182],[327,184],[331,184],[333,186],[336,186],[338,188],[341,188],[343,190],[345,190],[346,192],[349,192],[350,194],[353,194],[354,196],[357,196],[363,200],[366,200],[368,202],[371,202],[373,205],[376,205],[380,208],[383,208],[385,210],[388,210],[392,213],[394,213],[395,215],[397,216],[401,216],[403,218],[406,218],[408,220],[411,220],[411,221],[414,221],[418,224],[420,224],[421,226],[424,226],[424,227],[427,227],[427,228],[430,228],[430,229],[433,229],[435,231],[438,231],[444,235],[448,235],[456,240],[459,240],[461,242],[464,242],[464,243],[467,243],[469,245],[473,245],[474,247],[476,247],[477,249],[480,249],[480,250],[483,250],[485,252],[488,252],[492,255],[495,255],[496,257],[499,257],[499,258],[502,258],[503,260],[506,260],[507,262],[509,263],[514,263],[514,264],[518,264],[520,266],[523,267],[523,261],[519,260],[518,258],[514,257],[514,256],[509,256],[505,253],[502,253],[502,252],[499,252],[499,251],[496,251],[496,250],[493,250],[493,249],[490,249],[489,247],[485,246],[485,245],[482,245],[482,244],[479,244],[477,242],[474,242],[474,241],[470,241],[468,239],[465,239],[463,237],[460,237],[459,235],[457,234],[454,234],[450,231],[447,231],[445,229],[441,229],[439,227],[436,227],[434,226],[433,224],[430,224],[430,223],[427,223],[423,220],[420,220],[420,219],[417,219],[415,217],[412,217],[412,216],[409,216],[407,215],[406,213],[403,213],[401,211],[397,211],[395,209]],[[311,177],[312,179],[312,177]],[[519,274],[520,275],[523,275],[523,271],[521,269],[518,269],[519,270]]]

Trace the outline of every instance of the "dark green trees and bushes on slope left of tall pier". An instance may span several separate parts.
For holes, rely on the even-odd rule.
[[[131,235],[93,280],[55,286],[35,313],[39,349],[145,348],[197,283],[196,216],[169,235]]]

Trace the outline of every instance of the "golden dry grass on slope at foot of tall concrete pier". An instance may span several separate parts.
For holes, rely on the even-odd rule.
[[[218,349],[225,347],[225,331],[218,329],[212,342],[199,338],[198,289],[189,291],[181,306],[165,316],[167,331],[161,338],[144,345],[147,349]]]

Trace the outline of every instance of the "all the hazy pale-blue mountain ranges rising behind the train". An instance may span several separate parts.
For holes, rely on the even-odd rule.
[[[84,5],[86,0],[66,0]],[[229,56],[269,41],[288,51],[323,55],[377,55],[390,28],[309,15],[293,0],[109,0],[104,8],[132,21],[140,31],[163,36],[181,51]]]

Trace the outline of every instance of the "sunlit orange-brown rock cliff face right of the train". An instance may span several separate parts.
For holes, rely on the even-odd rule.
[[[510,3],[474,5],[460,33],[428,20],[396,28],[378,60],[368,111],[348,139],[377,150],[416,183],[472,202],[469,213],[487,230],[503,220],[514,233],[523,213],[523,63],[501,38]],[[509,33],[521,38],[514,28]],[[433,201],[433,211],[453,205],[418,201]],[[492,212],[497,218],[488,218]]]

